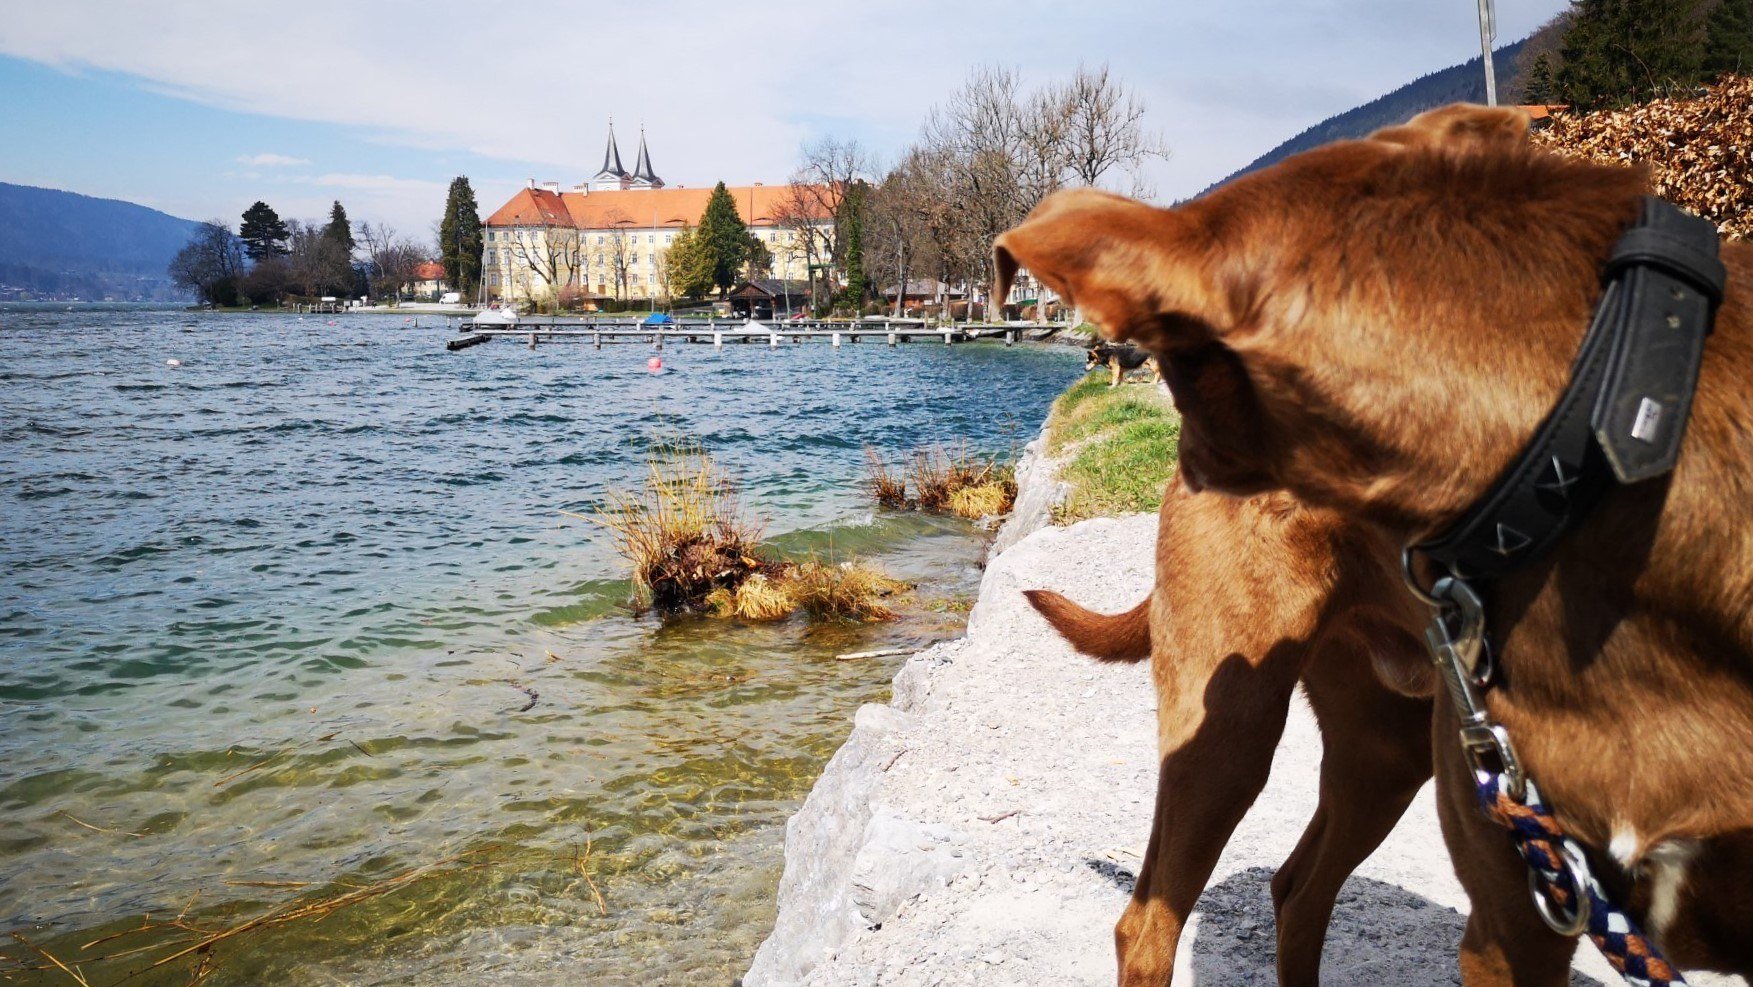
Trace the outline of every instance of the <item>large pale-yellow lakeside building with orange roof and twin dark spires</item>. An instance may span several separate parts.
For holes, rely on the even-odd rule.
[[[833,242],[829,196],[789,184],[731,186],[736,212],[773,256],[777,280],[805,280]],[[645,135],[629,172],[614,126],[603,167],[561,191],[529,182],[493,212],[482,238],[482,289],[489,302],[666,298],[664,251],[699,223],[712,188],[670,186],[652,168]]]

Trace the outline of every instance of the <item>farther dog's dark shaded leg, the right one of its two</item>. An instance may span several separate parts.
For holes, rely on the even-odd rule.
[[[1322,733],[1320,805],[1273,877],[1278,982],[1287,987],[1320,983],[1339,889],[1430,777],[1430,703],[1383,687],[1362,649],[1322,650],[1302,675]]]

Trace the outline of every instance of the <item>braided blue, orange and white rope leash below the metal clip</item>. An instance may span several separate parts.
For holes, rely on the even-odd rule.
[[[1618,908],[1595,880],[1581,849],[1564,834],[1551,808],[1539,798],[1534,782],[1523,782],[1523,798],[1515,798],[1502,773],[1480,771],[1480,806],[1485,815],[1508,827],[1516,852],[1527,861],[1539,891],[1562,915],[1583,919],[1588,938],[1608,957],[1627,983],[1637,987],[1683,987],[1685,976],[1651,943],[1637,922]],[[1581,896],[1581,898],[1579,898]],[[1543,913],[1546,908],[1541,910]]]

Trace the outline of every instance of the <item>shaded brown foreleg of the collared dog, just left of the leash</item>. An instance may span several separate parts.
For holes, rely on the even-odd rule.
[[[1480,813],[1473,775],[1455,743],[1455,710],[1436,703],[1432,745],[1436,803],[1455,877],[1473,913],[1460,938],[1460,982],[1467,987],[1564,987],[1576,940],[1546,927],[1529,899],[1527,864],[1509,834]]]

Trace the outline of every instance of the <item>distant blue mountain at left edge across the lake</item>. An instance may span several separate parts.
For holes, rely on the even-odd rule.
[[[0,298],[163,300],[195,223],[114,198],[0,182]]]

